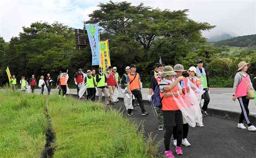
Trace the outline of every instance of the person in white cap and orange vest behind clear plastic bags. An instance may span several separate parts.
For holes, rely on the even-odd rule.
[[[195,93],[200,93],[200,89],[203,89],[203,86],[201,84],[201,80],[200,78],[197,76],[197,71],[196,71],[196,67],[194,66],[191,66],[189,69],[188,69],[188,74],[189,76],[187,77],[187,79],[190,81],[190,83],[194,84],[195,87],[191,87],[191,89],[195,92]],[[192,85],[191,84],[191,85]],[[201,111],[202,112],[202,111]],[[203,114],[203,112],[202,112]],[[199,126],[199,127],[204,127],[204,124],[203,122],[197,122],[196,123],[196,126]]]

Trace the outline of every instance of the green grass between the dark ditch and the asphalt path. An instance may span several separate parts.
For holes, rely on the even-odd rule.
[[[143,128],[100,103],[52,96],[47,109],[56,134],[54,158],[153,158],[157,153]]]

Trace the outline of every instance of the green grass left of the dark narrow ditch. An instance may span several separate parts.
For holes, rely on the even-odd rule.
[[[41,156],[48,127],[44,108],[44,96],[0,92],[0,157]]]

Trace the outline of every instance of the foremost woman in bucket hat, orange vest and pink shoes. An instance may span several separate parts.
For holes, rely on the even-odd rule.
[[[161,77],[163,80],[159,85],[159,94],[162,99],[162,111],[164,118],[164,154],[168,158],[174,158],[172,152],[170,151],[170,142],[173,133],[173,127],[177,126],[177,147],[175,151],[178,155],[183,154],[181,149],[182,142],[182,112],[180,111],[176,101],[174,99],[182,99],[180,95],[182,94],[180,81],[183,80],[183,77],[178,77],[175,81],[173,75],[176,73],[173,71],[171,66],[165,66],[163,72],[161,72]],[[174,98],[175,97],[175,98]]]

